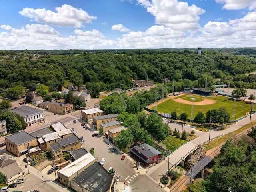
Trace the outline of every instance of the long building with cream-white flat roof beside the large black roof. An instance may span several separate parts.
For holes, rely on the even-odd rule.
[[[90,165],[97,164],[95,162],[96,162],[96,158],[92,154],[87,153],[84,156],[80,157],[78,160],[75,160],[74,162],[70,163],[66,167],[59,170],[57,172],[58,180],[64,186],[70,187],[70,181],[76,176],[79,176],[83,172],[83,170],[88,168]],[[104,182],[101,181],[101,183],[104,183]]]

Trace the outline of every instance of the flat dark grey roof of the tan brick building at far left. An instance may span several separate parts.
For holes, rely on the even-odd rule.
[[[24,144],[24,143],[34,140],[35,137],[28,134],[27,132],[20,131],[20,132],[12,134],[10,136],[7,136],[6,139],[10,140],[11,142],[13,142],[17,146],[19,146],[21,144]]]

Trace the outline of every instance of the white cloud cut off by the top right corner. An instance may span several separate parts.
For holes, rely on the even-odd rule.
[[[250,10],[256,8],[255,0],[215,0],[216,3],[224,4],[223,9],[238,10],[248,7]]]

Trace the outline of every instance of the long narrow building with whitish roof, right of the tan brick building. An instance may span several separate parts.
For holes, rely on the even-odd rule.
[[[56,141],[66,138],[72,134],[73,133],[70,129],[46,134],[41,138],[38,138],[38,145],[41,150],[50,150],[50,144],[55,143]]]

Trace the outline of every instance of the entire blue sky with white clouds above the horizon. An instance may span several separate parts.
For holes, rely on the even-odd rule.
[[[255,0],[8,0],[0,50],[255,47]]]

